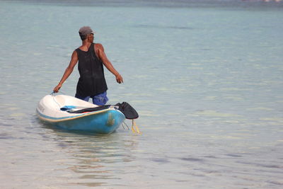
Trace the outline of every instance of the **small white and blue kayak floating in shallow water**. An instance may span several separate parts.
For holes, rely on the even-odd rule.
[[[98,106],[72,96],[52,93],[40,100],[36,112],[40,120],[64,130],[110,134],[126,118],[121,108],[120,103]]]

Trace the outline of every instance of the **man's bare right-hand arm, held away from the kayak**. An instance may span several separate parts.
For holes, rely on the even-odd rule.
[[[96,43],[96,55],[98,55],[98,58],[103,62],[103,64],[105,65],[105,67],[116,76],[116,81],[117,83],[121,84],[123,83],[123,78],[122,76],[119,74],[119,72],[113,67],[113,65],[111,64],[111,62],[108,60],[108,58],[105,55],[104,52],[104,48],[103,45],[101,45],[100,43]]]

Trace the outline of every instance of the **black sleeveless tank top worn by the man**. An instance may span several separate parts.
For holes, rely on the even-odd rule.
[[[88,51],[76,49],[79,57],[79,74],[80,78],[76,85],[76,95],[95,96],[99,93],[107,91],[107,84],[105,81],[103,62],[96,57],[94,51],[94,43],[88,48]]]

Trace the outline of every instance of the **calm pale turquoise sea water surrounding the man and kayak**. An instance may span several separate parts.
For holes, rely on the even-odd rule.
[[[37,120],[83,25],[141,135]],[[282,31],[274,1],[0,1],[0,188],[282,188]]]

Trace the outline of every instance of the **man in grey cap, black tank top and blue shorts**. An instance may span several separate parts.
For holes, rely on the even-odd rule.
[[[61,81],[54,87],[54,93],[57,93],[62,87],[62,84],[73,71],[76,63],[79,61],[78,69],[80,78],[76,86],[76,98],[83,101],[88,101],[93,98],[93,103],[96,105],[105,105],[107,103],[107,84],[105,81],[103,64],[105,67],[116,76],[117,83],[123,82],[122,76],[112,66],[111,62],[105,55],[103,45],[93,43],[93,30],[89,26],[83,26],[79,30],[79,35],[82,40],[81,47],[74,50],[71,55],[69,66],[65,70]]]

